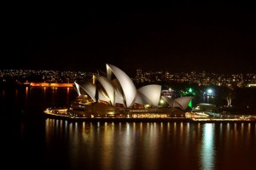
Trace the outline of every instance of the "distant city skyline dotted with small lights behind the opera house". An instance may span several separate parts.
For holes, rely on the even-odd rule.
[[[102,72],[84,71],[36,71],[36,70],[0,70],[0,82],[77,82],[92,80],[93,75]],[[131,77],[131,75],[129,75]],[[224,86],[228,88],[255,87],[256,73],[217,74],[204,71],[176,72],[137,70],[132,76],[133,82],[185,82],[199,86]]]

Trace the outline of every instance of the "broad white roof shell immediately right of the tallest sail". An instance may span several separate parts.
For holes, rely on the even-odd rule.
[[[161,86],[157,84],[150,84],[143,86],[137,90],[139,93],[146,96],[154,106],[158,106],[161,94]]]

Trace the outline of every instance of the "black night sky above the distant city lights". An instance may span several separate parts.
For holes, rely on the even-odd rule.
[[[256,72],[253,3],[3,3],[0,69]]]

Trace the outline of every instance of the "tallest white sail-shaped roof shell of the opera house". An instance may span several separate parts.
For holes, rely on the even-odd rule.
[[[132,105],[137,95],[137,89],[135,85],[131,81],[131,78],[128,77],[124,71],[121,71],[116,66],[107,64],[108,78],[110,78],[109,77],[110,71],[112,71],[114,76],[118,79],[119,84],[123,91],[123,97],[125,98],[125,102],[124,102],[125,107],[129,108]]]

